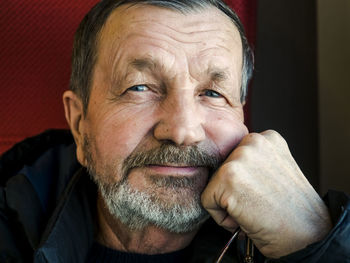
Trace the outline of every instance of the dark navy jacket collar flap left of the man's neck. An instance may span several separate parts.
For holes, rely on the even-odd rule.
[[[81,168],[63,192],[44,231],[34,261],[85,262],[94,241],[95,203],[96,186]]]

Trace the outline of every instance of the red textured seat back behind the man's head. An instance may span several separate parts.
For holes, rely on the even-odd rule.
[[[0,154],[49,128],[67,128],[74,32],[97,0],[0,1]],[[229,1],[254,41],[256,0]]]

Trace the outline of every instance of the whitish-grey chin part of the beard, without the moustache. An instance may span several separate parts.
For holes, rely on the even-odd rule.
[[[176,185],[183,183],[175,182]],[[173,194],[172,189],[169,195],[175,200],[169,202],[162,200],[156,190],[145,192],[131,188],[126,180],[112,186],[98,183],[98,186],[109,213],[132,230],[153,225],[169,232],[185,233],[199,228],[209,217],[201,206],[199,194],[184,202],[176,200],[183,197],[181,190]]]

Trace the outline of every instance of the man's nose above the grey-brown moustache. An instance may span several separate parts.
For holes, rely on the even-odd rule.
[[[176,145],[195,145],[205,139],[204,114],[191,92],[173,94],[160,106],[160,120],[154,129],[157,140]]]

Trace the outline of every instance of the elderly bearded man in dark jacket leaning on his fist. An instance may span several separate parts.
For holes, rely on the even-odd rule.
[[[63,95],[75,144],[52,131],[2,160],[0,261],[214,262],[240,229],[256,262],[348,262],[346,196],[327,207],[278,133],[244,125],[251,72],[219,0],[101,1]]]

